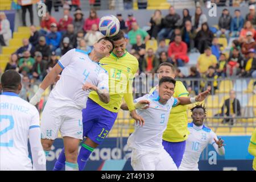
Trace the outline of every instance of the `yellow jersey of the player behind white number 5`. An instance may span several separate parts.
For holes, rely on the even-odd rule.
[[[152,93],[156,88],[152,88]],[[181,81],[176,81],[174,96],[188,97],[188,91]],[[167,123],[167,128],[163,133],[163,140],[167,142],[183,142],[188,138],[188,117],[187,117],[187,105],[178,105],[172,107],[170,117]]]

